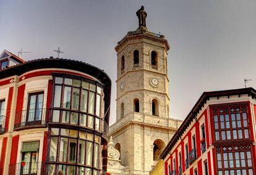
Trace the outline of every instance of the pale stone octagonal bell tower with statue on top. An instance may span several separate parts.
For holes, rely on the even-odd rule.
[[[115,47],[116,123],[109,136],[130,174],[148,174],[181,121],[169,118],[168,41],[148,31],[143,6],[136,14],[139,28]]]

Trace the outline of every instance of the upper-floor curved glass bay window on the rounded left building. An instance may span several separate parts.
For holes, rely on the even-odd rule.
[[[52,121],[100,130],[102,88],[83,79],[55,77]]]

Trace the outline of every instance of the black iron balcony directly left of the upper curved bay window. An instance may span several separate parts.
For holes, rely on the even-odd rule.
[[[45,108],[23,110],[22,112],[17,112],[15,115],[14,130],[19,130],[22,128],[37,128],[45,127],[45,118],[48,115],[48,111]]]

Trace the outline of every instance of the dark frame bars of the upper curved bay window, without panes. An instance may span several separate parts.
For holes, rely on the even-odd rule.
[[[62,78],[62,83],[56,83],[56,78]],[[72,84],[65,84],[65,79],[72,79]],[[80,86],[75,86],[74,85],[74,79],[80,81]],[[84,88],[83,87],[83,82],[88,83],[88,88]],[[90,88],[90,84],[92,84],[92,86],[95,86],[95,90]],[[59,107],[54,107],[54,97],[55,97],[55,87],[56,86],[61,86],[61,97],[60,97],[60,104]],[[69,108],[65,108],[64,107],[64,89],[65,87],[70,87],[70,106]],[[73,108],[73,89],[79,89],[79,104],[78,104],[78,109]],[[53,95],[52,95],[52,99],[53,102],[51,102],[51,118],[50,121],[55,123],[55,121],[53,121],[53,115],[54,115],[54,111],[58,111],[59,113],[59,123],[63,123],[63,116],[64,116],[64,112],[69,113],[69,120],[68,123],[64,123],[64,124],[69,124],[69,125],[77,125],[77,126],[82,126],[84,128],[90,128],[90,129],[96,129],[96,120],[100,120],[99,126],[97,126],[97,128],[99,128],[96,131],[101,131],[102,129],[102,124],[103,124],[103,115],[102,115],[102,105],[103,105],[103,84],[101,84],[98,81],[92,81],[90,79],[85,79],[81,76],[72,76],[72,75],[59,75],[59,74],[54,74],[53,75]],[[98,89],[101,90],[101,92],[98,92]],[[82,95],[83,95],[83,91],[87,92],[87,107],[86,110],[82,110]],[[93,97],[93,113],[89,112],[89,105],[90,105],[90,92],[92,94],[94,94]],[[97,115],[97,96],[100,96],[100,106],[99,106],[99,115]],[[77,113],[78,117],[77,117],[77,123],[72,124],[72,113]],[[86,126],[81,124],[82,121],[82,117],[86,116]],[[92,117],[93,118],[93,127],[89,127],[88,123],[89,123],[89,118]]]

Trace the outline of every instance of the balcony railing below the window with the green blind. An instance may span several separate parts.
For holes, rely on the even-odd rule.
[[[9,165],[9,174],[13,175],[41,175],[45,168],[41,162],[22,162]]]

